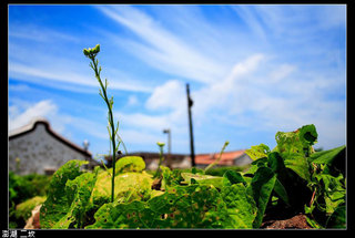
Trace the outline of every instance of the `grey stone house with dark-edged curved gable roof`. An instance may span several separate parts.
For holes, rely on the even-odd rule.
[[[71,159],[89,161],[88,169],[98,165],[90,152],[55,133],[43,118],[9,133],[9,170],[19,175],[53,174]]]

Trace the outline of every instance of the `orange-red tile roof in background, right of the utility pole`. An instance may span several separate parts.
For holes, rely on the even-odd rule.
[[[233,165],[234,159],[242,156],[244,152],[245,149],[234,151],[234,152],[224,152],[222,154],[219,165]],[[209,165],[209,164],[212,164],[215,159],[217,159],[219,156],[220,156],[220,153],[199,154],[199,155],[195,155],[195,163],[200,165]]]

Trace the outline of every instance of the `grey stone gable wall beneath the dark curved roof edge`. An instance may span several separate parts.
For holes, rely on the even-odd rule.
[[[58,169],[71,159],[84,161],[85,156],[50,135],[43,124],[9,141],[9,170],[19,175],[44,174],[45,168]]]

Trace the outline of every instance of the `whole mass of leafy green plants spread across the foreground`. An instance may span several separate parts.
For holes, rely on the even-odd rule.
[[[346,183],[339,165],[345,146],[314,152],[313,125],[276,134],[277,145],[252,146],[246,172],[160,166],[148,174],[141,157],[126,156],[113,168],[82,173],[82,162],[62,166],[53,176],[41,208],[44,228],[254,229],[278,208],[306,214],[314,228],[344,228]],[[223,149],[222,149],[223,151]],[[114,176],[114,199],[110,180]],[[160,186],[153,186],[160,183]]]

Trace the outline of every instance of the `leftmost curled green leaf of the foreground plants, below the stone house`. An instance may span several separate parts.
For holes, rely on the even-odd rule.
[[[53,174],[47,200],[40,210],[41,228],[52,228],[67,215],[72,200],[68,199],[65,184],[68,180],[80,176],[82,174],[80,167],[88,163],[87,161],[69,161]]]

